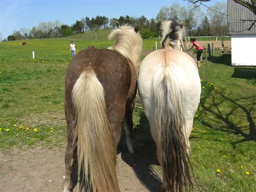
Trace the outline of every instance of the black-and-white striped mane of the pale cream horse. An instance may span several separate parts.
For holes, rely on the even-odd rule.
[[[179,40],[184,40],[186,36],[186,27],[175,20],[163,21],[162,30],[162,48],[172,47],[178,49]]]

